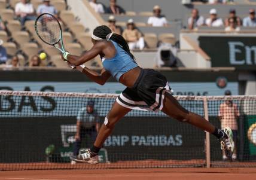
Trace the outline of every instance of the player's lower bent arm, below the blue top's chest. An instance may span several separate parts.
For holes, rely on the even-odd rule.
[[[87,75],[90,80],[95,81],[95,83],[100,85],[104,85],[106,81],[108,81],[109,77],[111,77],[111,74],[104,68],[101,69],[100,73],[87,67],[82,68],[81,66],[77,66],[77,70],[83,72],[83,74]]]

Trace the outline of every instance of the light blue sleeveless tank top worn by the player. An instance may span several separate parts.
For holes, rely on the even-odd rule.
[[[106,71],[110,72],[112,77],[114,77],[117,81],[121,75],[130,71],[133,68],[138,67],[135,60],[129,56],[129,54],[117,44],[117,42],[111,41],[115,46],[115,56],[111,59],[102,58],[103,67]]]

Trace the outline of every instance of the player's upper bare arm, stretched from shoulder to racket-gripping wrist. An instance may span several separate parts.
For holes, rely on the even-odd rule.
[[[87,51],[81,56],[74,56],[71,54],[68,54],[67,58],[65,59],[62,56],[63,60],[67,60],[69,63],[75,66],[83,65],[83,63],[88,62],[89,60],[92,60],[95,58],[104,48],[106,47],[106,42],[98,42],[97,44],[93,45],[92,49]]]

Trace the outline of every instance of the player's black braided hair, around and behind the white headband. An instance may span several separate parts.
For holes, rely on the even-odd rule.
[[[99,38],[106,39],[106,36],[111,33],[111,29],[108,28],[108,26],[102,25],[102,26],[97,26],[95,30],[93,30],[93,34]],[[112,41],[117,42],[125,50],[132,59],[134,59],[133,54],[130,52],[129,45],[126,42],[126,39],[123,38],[123,36],[118,35],[117,33],[113,33],[113,35],[110,38]]]

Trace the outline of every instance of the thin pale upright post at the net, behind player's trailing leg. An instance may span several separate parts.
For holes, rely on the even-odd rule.
[[[205,119],[209,121],[209,114],[208,114],[208,102],[207,97],[203,97],[203,109],[205,111]],[[211,156],[210,156],[210,133],[205,132],[206,135],[206,141],[205,141],[205,158],[206,158],[206,167],[211,167]]]

